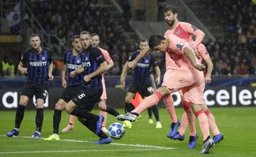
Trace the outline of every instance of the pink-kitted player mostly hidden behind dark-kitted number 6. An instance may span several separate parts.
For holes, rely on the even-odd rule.
[[[100,36],[96,33],[92,34],[92,45],[100,49],[101,53],[103,54],[103,57],[105,58],[108,64],[108,69],[111,69],[114,66],[114,62],[109,56],[108,51],[98,47],[100,45]],[[106,104],[106,100],[107,100],[106,85],[105,85],[105,79],[103,75],[102,75],[102,86],[103,86],[103,93],[101,95],[101,100],[103,101],[103,103]],[[107,112],[100,110],[100,114],[104,116],[104,121],[102,123],[101,130],[107,133],[108,132],[108,129],[106,129]],[[69,132],[70,130],[74,129],[75,118],[76,118],[75,116],[70,115],[69,124],[62,130],[62,132]]]

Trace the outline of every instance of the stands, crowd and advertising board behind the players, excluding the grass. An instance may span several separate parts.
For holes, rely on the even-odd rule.
[[[129,55],[139,48],[140,39],[163,34],[168,28],[161,9],[178,7],[179,20],[192,23],[203,32],[214,64],[213,82],[205,91],[209,106],[256,105],[256,7],[255,1],[200,0],[71,0],[0,1],[0,108],[14,109],[25,77],[17,72],[20,56],[29,48],[28,36],[38,33],[42,45],[54,52],[54,82],[48,108],[54,108],[62,92],[62,54],[71,48],[70,38],[82,30],[98,33],[100,46],[109,51],[114,67],[106,75],[108,103],[124,105],[125,91],[119,75]],[[164,74],[164,57],[155,53]],[[130,77],[127,77],[127,84]],[[54,93],[54,94],[53,94]],[[175,94],[176,95],[176,94]],[[174,96],[176,105],[179,105]],[[32,103],[32,102],[31,102]],[[163,107],[163,102],[160,103]],[[32,105],[28,108],[33,109]]]

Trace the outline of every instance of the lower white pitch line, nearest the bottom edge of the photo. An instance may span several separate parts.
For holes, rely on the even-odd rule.
[[[74,152],[90,152],[90,151],[152,151],[152,150],[161,150],[161,149],[122,149],[122,150],[54,150],[54,151],[14,151],[7,152],[3,151],[0,154],[25,154],[25,153],[74,153]]]

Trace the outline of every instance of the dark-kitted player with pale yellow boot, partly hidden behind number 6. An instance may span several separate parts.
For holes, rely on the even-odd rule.
[[[80,36],[75,35],[72,37],[73,49],[69,49],[64,53],[63,66],[62,66],[62,87],[65,90],[62,92],[61,98],[55,104],[53,115],[53,135],[50,135],[45,140],[59,140],[59,123],[61,122],[61,112],[65,105],[82,90],[81,83],[83,82],[83,75],[79,74],[75,77],[70,77],[70,72],[78,69],[82,64],[82,57],[80,52],[82,51],[82,45],[80,43]],[[67,81],[65,80],[66,72],[68,74]]]

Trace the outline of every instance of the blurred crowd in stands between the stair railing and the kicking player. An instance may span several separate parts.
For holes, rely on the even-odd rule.
[[[125,18],[128,23],[129,4],[127,1],[118,2],[124,9],[125,14],[122,18]],[[126,36],[122,33],[124,30],[119,27],[118,22],[109,19],[109,12],[106,7],[100,7],[106,3],[108,1],[98,0],[28,2],[46,32],[58,36],[67,48],[72,48],[70,42],[72,36],[78,35],[83,30],[98,33],[101,40],[100,47],[109,51],[115,64],[108,74],[119,75],[127,56],[137,50],[138,43],[127,43]],[[62,57],[59,57],[56,61],[56,69],[61,69],[61,64],[59,64],[61,60]],[[57,70],[54,73],[60,75],[61,71]]]

